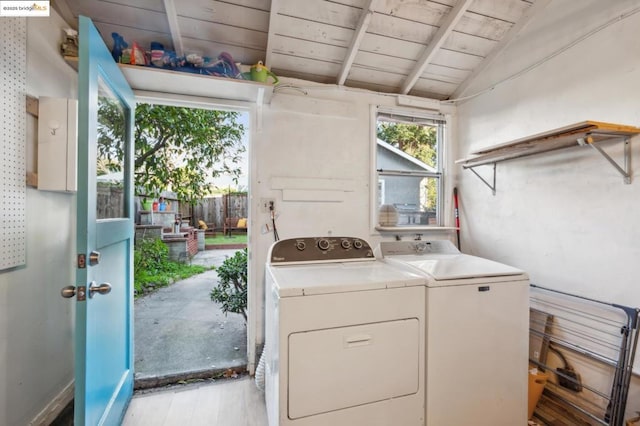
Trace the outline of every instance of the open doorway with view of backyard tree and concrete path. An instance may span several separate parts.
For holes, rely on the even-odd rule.
[[[166,139],[164,130],[149,127],[158,117],[168,120],[166,132],[181,137],[153,151],[151,138]],[[249,136],[247,109],[164,100],[136,108],[136,247],[157,239],[171,262],[203,272],[142,288],[135,271],[135,389],[246,370],[246,319],[211,294],[218,269],[249,249]]]

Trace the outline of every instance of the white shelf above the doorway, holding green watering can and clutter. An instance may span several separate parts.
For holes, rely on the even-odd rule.
[[[78,69],[78,58],[65,56],[65,61]],[[162,68],[118,64],[133,90],[202,96],[207,98],[251,102],[271,102],[273,85],[233,78],[213,77]]]

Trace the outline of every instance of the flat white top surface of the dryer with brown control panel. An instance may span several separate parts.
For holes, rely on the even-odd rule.
[[[425,285],[419,271],[412,272],[380,261],[267,265],[280,297],[382,290]]]

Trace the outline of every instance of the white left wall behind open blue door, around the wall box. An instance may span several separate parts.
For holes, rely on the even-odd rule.
[[[75,73],[59,54],[62,20],[27,19],[27,92],[76,97]],[[28,118],[27,168],[35,166],[36,121]],[[73,381],[75,196],[27,188],[27,263],[0,271],[0,424],[45,419]],[[62,407],[63,408],[63,407]],[[42,414],[41,417],[38,417]]]

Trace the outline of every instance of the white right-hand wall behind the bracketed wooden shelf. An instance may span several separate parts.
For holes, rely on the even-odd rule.
[[[635,0],[552,1],[464,95],[593,34],[460,102],[460,155],[584,120],[640,126],[640,13],[616,19],[638,6]],[[464,251],[520,267],[542,286],[640,306],[638,142],[632,140],[631,185],[589,147],[498,164],[495,196],[459,168]],[[606,148],[621,160],[620,144]],[[489,176],[490,167],[483,168],[478,171]],[[640,410],[639,386],[635,377],[629,411]]]

